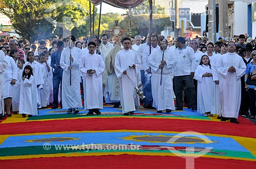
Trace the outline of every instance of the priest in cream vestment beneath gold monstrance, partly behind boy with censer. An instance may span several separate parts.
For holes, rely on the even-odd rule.
[[[115,108],[118,108],[120,105],[120,84],[115,73],[116,54],[120,50],[122,50],[120,44],[115,44],[115,47],[105,58],[105,69],[108,72],[108,77],[106,78],[104,97],[106,103],[114,103]]]

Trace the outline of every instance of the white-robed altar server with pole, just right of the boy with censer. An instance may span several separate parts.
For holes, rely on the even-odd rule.
[[[165,45],[166,44],[166,45]],[[164,48],[164,59],[163,59]],[[147,63],[151,67],[152,73],[152,96],[153,107],[157,108],[158,113],[165,110],[169,114],[175,109],[173,97],[173,67],[177,58],[174,53],[167,48],[167,41],[160,41],[160,48],[153,51],[147,58]],[[162,60],[163,59],[163,60]],[[162,72],[162,81],[161,81]],[[161,81],[161,85],[160,85]]]

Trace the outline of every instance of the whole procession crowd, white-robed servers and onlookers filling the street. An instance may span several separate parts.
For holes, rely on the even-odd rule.
[[[255,118],[256,88],[246,85],[256,74],[255,39],[241,34],[211,42],[206,32],[195,39],[149,38],[1,39],[1,118],[31,117],[50,105],[77,114],[82,102],[87,115],[100,115],[104,102],[121,105],[124,116],[142,104],[159,114],[187,106],[232,123],[239,114]]]

